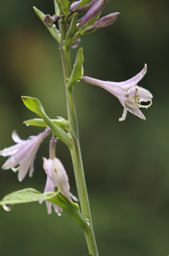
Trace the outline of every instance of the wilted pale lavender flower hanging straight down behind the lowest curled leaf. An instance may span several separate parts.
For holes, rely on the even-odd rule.
[[[47,175],[46,186],[44,189],[45,192],[55,192],[55,187],[60,188],[60,193],[72,201],[71,197],[75,199],[75,197],[70,193],[69,179],[68,175],[64,169],[61,161],[55,157],[55,145],[56,140],[54,137],[51,138],[50,147],[49,147],[49,159],[43,157],[43,168]],[[76,200],[76,199],[75,199]],[[39,201],[42,203],[43,200]],[[56,204],[52,204],[49,201],[46,201],[46,206],[48,209],[48,214],[51,214],[51,207],[54,207],[55,212],[61,216],[62,208],[57,206]]]

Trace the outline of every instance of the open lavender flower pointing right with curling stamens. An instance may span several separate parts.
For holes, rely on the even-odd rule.
[[[147,70],[147,66],[145,64],[144,68],[137,75],[133,76],[133,78],[126,80],[124,82],[109,82],[109,81],[101,81],[98,79],[90,78],[87,76],[82,77],[82,81],[88,84],[97,85],[99,87],[104,88],[108,92],[112,93],[115,97],[117,97],[120,103],[124,107],[124,112],[119,121],[123,121],[126,118],[127,110],[138,116],[139,118],[145,120],[145,116],[139,110],[139,108],[148,108],[152,104],[152,94],[137,85],[137,83],[143,78]],[[150,102],[148,105],[144,106],[141,102]]]

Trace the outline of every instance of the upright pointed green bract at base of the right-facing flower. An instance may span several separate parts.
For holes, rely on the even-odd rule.
[[[80,48],[77,51],[76,61],[72,70],[71,76],[68,81],[68,90],[73,88],[73,85],[83,76],[83,49]]]

